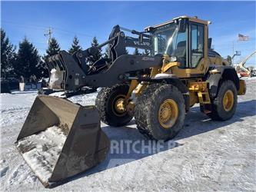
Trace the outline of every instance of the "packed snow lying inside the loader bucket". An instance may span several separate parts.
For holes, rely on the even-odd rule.
[[[62,130],[52,126],[18,141],[17,147],[22,151],[22,156],[42,182],[48,182],[52,176],[65,139]]]

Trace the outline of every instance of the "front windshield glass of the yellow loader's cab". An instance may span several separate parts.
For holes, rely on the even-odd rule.
[[[178,25],[170,23],[153,32],[154,53],[175,56],[181,65],[186,63],[187,32],[178,31]]]

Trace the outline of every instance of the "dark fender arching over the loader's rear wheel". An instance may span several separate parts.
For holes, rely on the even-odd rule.
[[[221,81],[231,80],[235,87],[239,90],[239,78],[234,68],[230,66],[210,66],[206,81],[209,83],[210,97],[214,98],[218,94],[218,88]]]

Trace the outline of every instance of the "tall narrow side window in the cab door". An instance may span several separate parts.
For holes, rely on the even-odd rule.
[[[191,68],[204,57],[204,26],[191,25]]]

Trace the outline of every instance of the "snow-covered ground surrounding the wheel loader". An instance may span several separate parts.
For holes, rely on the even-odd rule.
[[[132,141],[136,151],[121,147],[87,173],[52,190],[256,190],[255,128],[256,78],[247,79],[247,94],[229,121],[211,121],[198,106],[191,108],[185,127],[175,138],[154,151],[138,133],[135,121],[125,127],[101,124],[111,144]],[[94,104],[96,94],[72,101]],[[15,148],[15,140],[35,100],[35,91],[0,94],[2,191],[45,191]],[[144,151],[148,144],[148,151]],[[119,153],[118,153],[119,152]],[[158,152],[158,153],[157,153]]]

